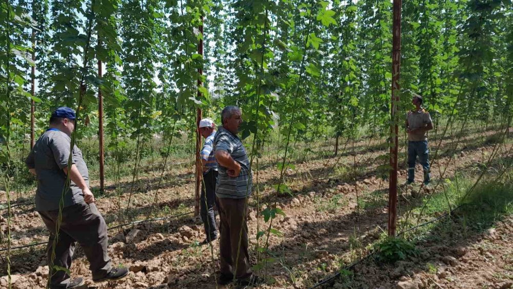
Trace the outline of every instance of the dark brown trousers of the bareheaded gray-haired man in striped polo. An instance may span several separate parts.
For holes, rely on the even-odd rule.
[[[221,274],[246,278],[251,275],[248,254],[247,200],[217,198],[221,225],[219,241]],[[239,246],[240,244],[240,246]],[[239,258],[237,258],[239,256]]]

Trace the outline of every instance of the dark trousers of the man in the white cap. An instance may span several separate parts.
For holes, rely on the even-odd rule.
[[[210,170],[203,175],[200,196],[200,216],[205,228],[207,240],[215,240],[218,238],[218,228],[215,225],[214,204],[215,201],[215,184],[218,181],[218,172]],[[218,205],[219,207],[219,205]]]

